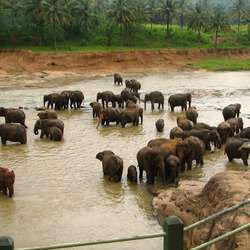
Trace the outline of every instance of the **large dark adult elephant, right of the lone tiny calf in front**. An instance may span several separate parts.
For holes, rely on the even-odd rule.
[[[159,169],[163,183],[165,185],[164,158],[158,150],[152,149],[150,147],[143,147],[137,152],[136,158],[139,167],[140,180],[142,180],[143,171],[145,171],[147,184],[153,185]]]

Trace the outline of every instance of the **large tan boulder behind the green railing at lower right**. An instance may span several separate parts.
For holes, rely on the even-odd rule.
[[[159,223],[178,216],[184,227],[250,198],[250,172],[224,171],[207,183],[182,180],[178,188],[161,190],[153,199]],[[237,227],[250,223],[250,204],[222,215],[185,233],[185,246],[191,249]],[[206,249],[249,249],[250,232],[244,230]]]

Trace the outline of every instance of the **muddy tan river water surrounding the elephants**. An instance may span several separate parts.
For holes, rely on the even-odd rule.
[[[167,98],[173,93],[192,92],[199,122],[217,126],[223,121],[222,108],[241,103],[244,126],[250,126],[250,72],[206,71],[173,72],[156,75],[123,76],[137,79],[145,93],[154,90],[165,95],[164,110],[144,111],[144,124],[121,128],[111,124],[96,129],[89,106],[96,93],[111,90],[120,93],[124,86],[113,84],[113,77],[93,78],[56,88],[3,90],[0,106],[25,107],[28,125],[27,145],[8,143],[0,146],[1,166],[16,174],[13,198],[0,195],[0,236],[14,239],[15,247],[44,246],[97,239],[113,239],[161,232],[152,210],[153,196],[145,183],[127,181],[127,168],[137,165],[136,153],[150,139],[169,137],[176,126],[180,108],[171,113]],[[85,95],[81,110],[59,111],[65,123],[62,142],[40,139],[34,135],[37,120],[35,107],[42,106],[43,95],[63,90],[81,90]],[[143,103],[140,104],[143,107]],[[163,118],[165,129],[158,133],[155,121]],[[0,117],[0,123],[4,118]],[[96,154],[111,149],[124,160],[121,183],[103,177]],[[249,171],[241,160],[229,163],[224,147],[211,154],[206,152],[204,166],[181,173],[182,178],[207,181],[223,170]],[[85,247],[82,249],[162,249],[162,238]]]

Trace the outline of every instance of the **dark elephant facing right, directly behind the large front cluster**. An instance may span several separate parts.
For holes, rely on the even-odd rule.
[[[214,148],[221,148],[221,138],[217,130],[209,130],[209,129],[191,129],[187,133],[187,137],[189,136],[196,136],[200,140],[202,140],[205,144],[205,149],[208,151],[211,151],[211,145],[212,142],[214,144]]]

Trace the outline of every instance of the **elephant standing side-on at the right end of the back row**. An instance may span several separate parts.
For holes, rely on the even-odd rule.
[[[191,93],[183,93],[183,94],[173,94],[168,98],[168,104],[170,105],[171,112],[174,112],[174,108],[177,106],[181,106],[182,111],[187,110],[187,102],[188,107],[191,107],[192,94]]]

